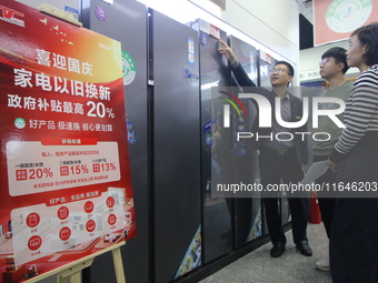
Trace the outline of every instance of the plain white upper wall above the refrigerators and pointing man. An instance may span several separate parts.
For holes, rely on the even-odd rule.
[[[299,10],[295,0],[228,0],[221,19],[295,63]]]

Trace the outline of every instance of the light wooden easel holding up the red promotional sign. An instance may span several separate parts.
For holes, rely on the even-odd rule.
[[[54,274],[57,274],[58,276],[58,280],[57,280],[58,283],[68,283],[68,282],[69,283],[81,283],[81,271],[86,267],[89,267],[92,264],[96,256],[110,252],[110,251],[112,252],[117,283],[126,283],[123,264],[122,264],[122,255],[121,255],[121,246],[125,245],[125,243],[126,243],[125,241],[120,242],[118,244],[103,249],[94,254],[82,257],[79,261],[66,264],[61,267],[43,273],[39,276],[32,277],[28,280],[28,283],[39,282],[40,280],[52,276]]]

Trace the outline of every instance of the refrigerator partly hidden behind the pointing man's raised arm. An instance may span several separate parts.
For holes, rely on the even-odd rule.
[[[259,69],[256,48],[233,36],[229,37],[229,46],[248,77],[257,85]],[[236,82],[236,80],[232,79],[231,82]],[[233,84],[232,92],[238,97],[242,89],[238,84]],[[253,184],[259,183],[258,151],[252,146],[251,139],[237,141],[236,134],[237,132],[249,132],[251,130],[257,110],[249,99],[240,99],[240,101],[247,109],[247,115],[238,115],[235,111],[232,115],[232,183]],[[239,247],[262,235],[262,208],[258,192],[251,193],[250,198],[236,198],[233,202],[235,245]]]

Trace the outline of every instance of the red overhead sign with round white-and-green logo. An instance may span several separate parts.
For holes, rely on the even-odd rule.
[[[314,0],[315,46],[348,39],[374,22],[377,13],[374,0]]]

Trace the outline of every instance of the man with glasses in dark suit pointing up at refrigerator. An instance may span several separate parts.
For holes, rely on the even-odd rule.
[[[246,87],[256,87],[256,84],[248,78],[247,73],[241,68],[238,59],[232,50],[225,41],[221,41],[219,52],[223,54],[231,63],[231,70],[238,83]],[[295,132],[307,132],[307,125],[297,129],[287,129],[281,127],[276,118],[276,98],[280,98],[281,118],[287,122],[296,122],[302,118],[302,101],[292,94],[288,93],[288,85],[294,78],[294,69],[290,63],[286,61],[278,61],[271,70],[270,83],[272,90],[258,88],[259,94],[269,100],[272,108],[272,127],[258,129],[259,137],[272,137],[272,139],[265,138],[257,141],[257,146],[260,150],[259,165],[261,184],[266,189],[269,184],[280,184],[281,181],[286,184],[298,183],[304,179],[304,171],[307,170],[308,162],[308,146],[306,137],[295,134]],[[248,92],[247,89],[245,89]],[[258,115],[257,115],[258,118]],[[258,125],[258,119],[255,124]],[[280,139],[276,139],[277,133],[289,132],[292,139],[280,134]],[[266,208],[267,224],[269,229],[270,240],[273,247],[270,250],[272,257],[279,257],[285,252],[286,236],[282,231],[281,215],[278,206],[278,192],[270,198],[263,198]],[[311,256],[312,250],[308,244],[307,239],[307,200],[304,198],[291,198],[288,192],[288,201],[291,211],[292,236],[297,249],[306,255]]]

